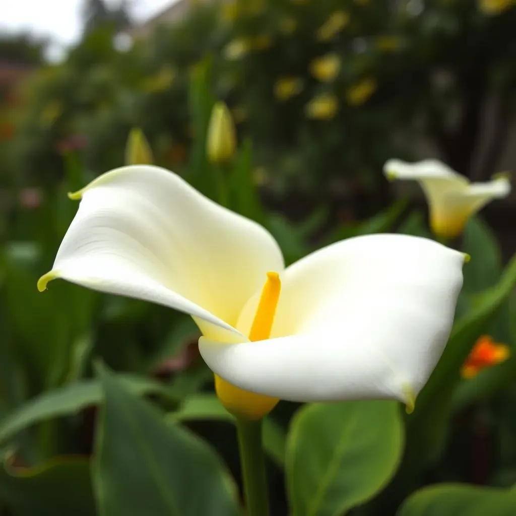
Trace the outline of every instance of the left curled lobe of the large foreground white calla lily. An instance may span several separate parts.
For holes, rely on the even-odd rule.
[[[283,269],[264,228],[168,170],[115,169],[76,196],[79,209],[40,288],[63,278],[230,329],[266,272]]]

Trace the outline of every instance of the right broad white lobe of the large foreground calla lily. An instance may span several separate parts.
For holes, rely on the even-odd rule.
[[[201,339],[204,360],[240,388],[294,401],[409,403],[453,325],[464,255],[404,235],[351,238],[287,268],[271,338]],[[246,333],[257,303],[237,329]]]

